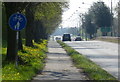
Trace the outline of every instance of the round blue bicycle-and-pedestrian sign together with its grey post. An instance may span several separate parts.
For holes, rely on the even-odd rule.
[[[19,41],[19,31],[25,28],[27,19],[23,14],[15,13],[9,18],[9,26],[12,30],[17,31],[16,33],[16,53],[18,53],[18,41]],[[15,66],[18,66],[18,54],[16,54]]]

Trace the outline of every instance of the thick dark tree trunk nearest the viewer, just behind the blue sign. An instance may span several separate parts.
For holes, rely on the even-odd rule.
[[[6,7],[6,15],[7,15],[7,22],[9,17],[15,13],[13,7],[14,4],[5,3]],[[16,40],[16,31],[10,29],[9,25],[7,25],[7,56],[6,61],[15,61],[17,56],[17,40]]]

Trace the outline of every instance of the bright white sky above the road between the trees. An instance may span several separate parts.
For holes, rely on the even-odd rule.
[[[80,13],[85,13],[93,2],[103,1],[108,7],[111,7],[111,0],[70,0],[69,9],[63,13],[62,27],[77,27]],[[113,9],[119,0],[112,0]],[[84,2],[84,4],[82,4]]]

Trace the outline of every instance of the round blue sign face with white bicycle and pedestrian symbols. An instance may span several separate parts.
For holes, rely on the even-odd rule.
[[[9,18],[9,26],[15,31],[20,31],[25,28],[27,19],[23,14],[15,13]]]

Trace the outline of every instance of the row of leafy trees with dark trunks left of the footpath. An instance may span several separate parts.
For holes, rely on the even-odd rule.
[[[6,26],[3,28],[3,38],[5,35],[7,36],[6,61],[15,61],[17,50],[23,50],[23,37],[25,45],[29,47],[34,46],[33,40],[40,43],[41,39],[48,39],[49,35],[61,23],[63,8],[67,8],[68,4],[61,2],[4,2],[2,6],[4,9],[3,26]],[[22,13],[27,18],[26,28],[24,31],[19,31],[18,44],[17,32],[10,29],[8,25],[9,17],[14,13]]]

